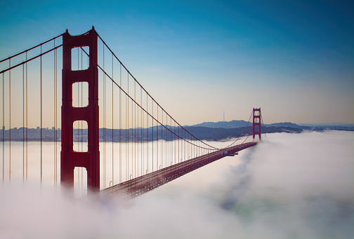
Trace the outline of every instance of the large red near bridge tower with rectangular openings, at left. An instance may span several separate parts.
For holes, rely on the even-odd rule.
[[[98,115],[98,34],[94,27],[79,36],[68,31],[63,34],[63,103],[61,108],[62,150],[60,152],[60,183],[74,186],[74,168],[87,170],[88,191],[100,191],[100,151]],[[89,47],[89,68],[72,70],[72,48]],[[86,107],[72,106],[72,85],[87,82],[89,104]],[[88,126],[88,151],[74,151],[74,121],[86,121]]]

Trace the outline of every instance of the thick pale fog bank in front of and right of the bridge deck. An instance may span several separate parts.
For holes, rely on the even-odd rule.
[[[0,238],[350,238],[353,145],[353,132],[270,134],[129,205],[14,180],[0,191]]]

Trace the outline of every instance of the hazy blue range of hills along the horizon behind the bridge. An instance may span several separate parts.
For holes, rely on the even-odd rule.
[[[221,122],[204,122],[199,123],[197,125],[192,126],[184,126],[192,135],[199,139],[209,139],[209,140],[221,140],[227,139],[232,137],[238,137],[243,132],[243,135],[248,135],[249,132],[252,130],[252,123],[247,125],[246,121],[221,121]],[[135,128],[135,129],[99,129],[99,137],[100,140],[103,140],[103,136],[105,135],[106,141],[114,142],[127,142],[127,141],[152,141],[158,139],[165,139],[165,140],[173,140],[176,139],[176,136],[173,136],[169,132],[166,132],[166,128],[168,130],[172,130],[176,132],[176,134],[181,134],[183,130],[179,130],[178,127],[171,126],[171,125],[159,125],[155,126],[154,128],[150,127],[146,128]],[[25,128],[26,129],[26,128]],[[311,126],[304,126],[304,125],[297,125],[296,123],[284,122],[284,123],[271,123],[262,125],[261,132],[265,133],[273,133],[273,132],[302,132],[303,130],[313,130],[313,131],[323,131],[323,130],[345,130],[345,131],[354,131],[353,125],[311,125]],[[23,140],[23,132],[24,128],[12,128],[11,129],[11,141],[22,141]],[[43,128],[42,130],[37,128],[28,128],[27,132],[27,139],[29,141],[39,141],[43,138],[44,141],[53,142],[56,137],[56,140],[61,140],[61,130],[57,129],[56,131],[51,128]],[[56,132],[56,133],[55,133]],[[73,130],[73,137],[74,142],[78,142],[79,140],[83,140],[87,142],[88,135],[87,129]],[[79,135],[82,134],[82,137]],[[41,137],[42,135],[42,137]],[[4,137],[4,139],[3,139]],[[181,137],[185,137],[183,133]],[[8,141],[10,139],[10,130],[5,130],[3,132],[0,129],[0,142]]]

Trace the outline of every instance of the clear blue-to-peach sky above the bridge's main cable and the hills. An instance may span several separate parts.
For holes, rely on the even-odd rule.
[[[0,58],[96,31],[183,125],[354,123],[351,1],[0,1]]]

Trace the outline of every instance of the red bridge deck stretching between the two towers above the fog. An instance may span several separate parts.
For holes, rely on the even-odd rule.
[[[191,158],[188,161],[176,163],[175,165],[162,168],[161,170],[150,172],[147,175],[136,177],[126,182],[122,182],[121,184],[103,189],[100,191],[100,196],[117,195],[121,196],[124,200],[133,199],[143,193],[151,191],[152,189],[156,189],[158,186],[171,182],[173,179],[177,179],[188,172],[192,172],[197,168],[201,168],[202,166],[217,161],[225,156],[233,156],[234,153],[255,146],[256,144],[256,142],[238,144],[212,153],[206,153],[203,156]]]

